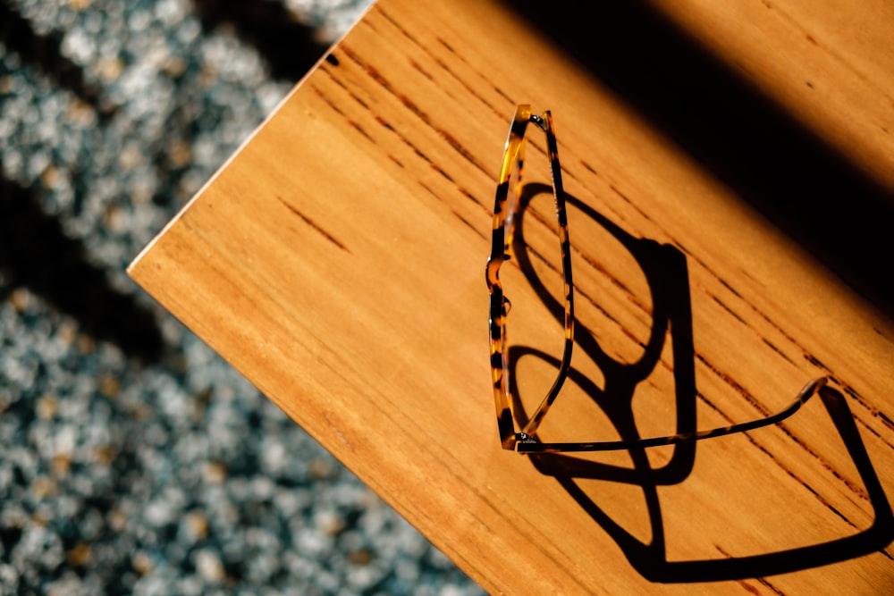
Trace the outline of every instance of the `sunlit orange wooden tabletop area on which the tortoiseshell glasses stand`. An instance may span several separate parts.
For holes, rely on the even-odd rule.
[[[730,424],[820,375],[853,417],[814,399],[695,448],[500,449],[484,265],[517,103],[552,110],[585,297],[577,383],[544,434]],[[543,147],[532,182],[548,182]],[[552,353],[549,197],[522,213],[510,340]],[[490,592],[894,586],[894,324],[502,4],[376,4],[130,271]],[[656,320],[671,330],[650,340]],[[651,367],[611,364],[646,344]],[[551,365],[516,365],[528,407]]]

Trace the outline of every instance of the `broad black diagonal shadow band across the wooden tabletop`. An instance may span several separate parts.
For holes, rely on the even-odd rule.
[[[510,7],[894,315],[894,196],[645,2]],[[658,190],[656,190],[658,191]]]

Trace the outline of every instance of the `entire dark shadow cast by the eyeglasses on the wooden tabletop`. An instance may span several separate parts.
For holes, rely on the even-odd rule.
[[[528,207],[532,199],[541,194],[552,194],[552,188],[543,184],[528,184],[519,197],[515,214],[516,231],[512,240],[513,252],[521,273],[537,298],[555,321],[561,323],[564,320],[564,306],[561,299],[541,279],[535,264],[537,256],[532,258],[532,251],[526,241],[524,222]],[[612,357],[586,325],[578,324],[574,330],[575,344],[601,371],[602,386],[589,374],[582,373],[573,366],[569,368],[569,383],[586,395],[593,407],[602,410],[622,441],[635,441],[639,439],[640,432],[632,406],[634,393],[638,385],[654,374],[670,335],[677,430],[696,430],[698,393],[686,256],[677,248],[654,240],[634,238],[577,197],[565,193],[565,199],[567,205],[574,206],[578,212],[575,214],[576,218],[584,217],[603,228],[635,259],[645,273],[652,314],[651,331],[644,342],[641,356],[625,362]],[[576,229],[580,227],[577,224],[578,219],[574,219]],[[558,274],[554,271],[552,273]],[[541,365],[557,370],[561,362],[558,357],[527,345],[513,345],[508,352],[514,416],[516,422],[524,426],[527,424],[530,408],[519,398],[519,367],[522,363],[536,360]],[[807,546],[793,546],[744,557],[669,560],[665,514],[662,511],[659,487],[682,483],[692,472],[698,444],[696,442],[673,446],[671,457],[662,466],[654,466],[647,456],[648,449],[641,447],[628,449],[628,460],[632,464],[628,466],[594,461],[567,453],[532,453],[527,457],[541,474],[554,478],[575,499],[595,524],[602,527],[620,546],[630,564],[650,581],[689,583],[734,580],[821,567],[857,558],[887,546],[894,539],[894,516],[846,399],[838,390],[828,386],[819,387],[818,395],[847,449],[848,457],[856,466],[874,516],[872,525],[868,528]],[[629,484],[642,491],[651,538],[646,541],[628,531],[603,507],[597,505],[582,486],[583,482],[590,480]]]

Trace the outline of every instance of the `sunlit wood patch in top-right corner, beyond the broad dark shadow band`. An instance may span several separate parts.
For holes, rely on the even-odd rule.
[[[894,189],[894,4],[654,4],[831,147]]]

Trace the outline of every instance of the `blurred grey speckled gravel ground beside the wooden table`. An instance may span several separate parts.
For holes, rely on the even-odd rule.
[[[124,273],[368,0],[0,0],[0,593],[480,588]]]

